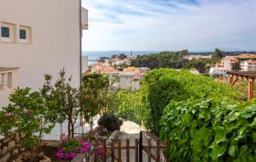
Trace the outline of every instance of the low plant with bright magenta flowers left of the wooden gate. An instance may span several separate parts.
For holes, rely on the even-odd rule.
[[[90,142],[84,141],[82,137],[62,137],[62,147],[55,156],[58,159],[74,159],[77,154],[84,154],[90,151]]]

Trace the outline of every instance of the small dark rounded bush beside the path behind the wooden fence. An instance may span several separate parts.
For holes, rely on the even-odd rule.
[[[106,127],[108,131],[119,130],[122,124],[122,121],[113,114],[102,115],[98,120],[98,125]]]

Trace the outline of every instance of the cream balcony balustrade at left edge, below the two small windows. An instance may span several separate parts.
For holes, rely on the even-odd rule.
[[[17,87],[19,68],[0,68],[0,109],[9,103],[9,94]]]

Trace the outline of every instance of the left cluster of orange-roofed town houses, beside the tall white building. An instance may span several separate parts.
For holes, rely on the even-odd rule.
[[[140,88],[140,81],[143,74],[150,70],[147,67],[137,68],[131,66],[131,56],[123,54],[113,55],[111,58],[104,58],[91,64],[83,75],[91,73],[106,74],[110,81],[110,90],[116,92],[120,89],[135,91]]]

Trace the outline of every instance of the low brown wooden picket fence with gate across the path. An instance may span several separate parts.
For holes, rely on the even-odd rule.
[[[142,134],[142,133],[141,133]],[[148,162],[151,162],[152,159],[156,162],[162,162],[160,159],[161,150],[165,150],[165,159],[163,161],[169,162],[169,148],[170,143],[166,142],[166,145],[162,145],[160,143],[160,139],[157,140],[156,145],[152,145],[151,139],[148,139],[147,145],[143,145],[142,135],[140,139],[135,139],[134,145],[131,145],[130,139],[125,140],[125,146],[122,146],[121,139],[118,139],[117,145],[114,139],[111,140],[110,145],[107,145],[106,140],[102,140],[99,142],[95,141],[95,151],[94,151],[94,161],[99,162],[100,160],[106,162],[107,159],[111,162],[125,162],[122,160],[122,150],[125,150],[126,162],[130,162],[131,159],[131,151],[134,151],[134,159],[135,162],[143,162],[143,150],[146,152],[148,156]],[[102,144],[99,144],[102,143]],[[99,156],[98,150],[102,150],[102,157]],[[151,150],[156,149],[156,155],[152,154]],[[115,150],[117,150],[117,155],[115,154]]]

